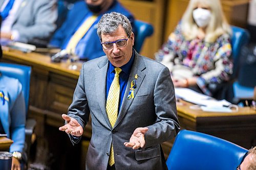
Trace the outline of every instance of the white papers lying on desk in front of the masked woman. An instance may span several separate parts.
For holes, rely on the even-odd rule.
[[[194,90],[188,89],[188,88],[175,88],[175,95],[176,98],[180,98],[184,101],[194,103],[200,106],[229,106],[231,103],[229,103],[226,100],[217,101],[214,98],[211,98],[208,95],[198,93]]]

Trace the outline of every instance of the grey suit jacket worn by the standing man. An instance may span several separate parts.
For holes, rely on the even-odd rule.
[[[89,145],[87,169],[106,169],[111,142],[116,169],[166,169],[160,143],[172,139],[179,131],[174,85],[164,65],[135,53],[124,99],[112,128],[106,114],[106,56],[83,64],[68,115],[86,126],[92,117],[92,138]],[[136,80],[135,98],[127,99],[131,81]],[[134,130],[147,127],[145,147],[133,150],[123,145]],[[77,143],[73,136],[71,141]]]

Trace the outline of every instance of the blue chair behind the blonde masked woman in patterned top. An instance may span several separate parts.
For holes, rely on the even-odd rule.
[[[232,45],[232,58],[233,58],[233,75],[232,79],[234,79],[233,83],[233,92],[234,99],[233,103],[238,103],[243,99],[250,99],[253,97],[253,87],[246,87],[241,85],[238,81],[238,74],[240,69],[240,63],[243,60],[241,58],[241,48],[243,45],[246,45],[249,42],[249,33],[245,29],[239,27],[231,27],[233,35],[231,39]]]

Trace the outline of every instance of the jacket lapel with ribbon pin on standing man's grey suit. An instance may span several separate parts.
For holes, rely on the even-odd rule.
[[[127,99],[127,96],[129,94],[130,88],[131,88],[131,82],[133,80],[135,80],[134,75],[138,75],[138,79],[136,80],[136,88],[134,90],[134,96],[136,98],[136,94],[140,88],[140,85],[142,83],[142,81],[144,80],[144,77],[146,76],[144,74],[144,72],[142,72],[142,70],[144,70],[146,68],[144,61],[142,59],[142,57],[135,51],[135,59],[134,59],[134,63],[131,69],[131,73],[129,76],[129,80],[127,82],[127,87],[126,90],[124,92],[124,96],[123,96],[123,102],[116,120],[116,124],[115,126],[117,126],[119,124],[119,122],[122,120],[123,116],[126,114],[127,110],[130,108],[131,104],[133,103],[134,99]],[[114,128],[115,128],[114,126]]]

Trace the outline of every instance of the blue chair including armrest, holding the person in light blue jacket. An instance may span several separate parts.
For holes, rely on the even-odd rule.
[[[28,114],[28,106],[29,106],[29,90],[30,90],[30,75],[31,75],[31,67],[25,65],[18,64],[10,64],[10,63],[2,63],[0,62],[0,71],[3,75],[16,78],[22,84],[22,91],[25,98],[26,104],[26,113]],[[29,158],[30,145],[31,145],[31,136],[34,132],[34,128],[36,125],[36,121],[34,119],[28,119],[26,122],[26,153]]]

